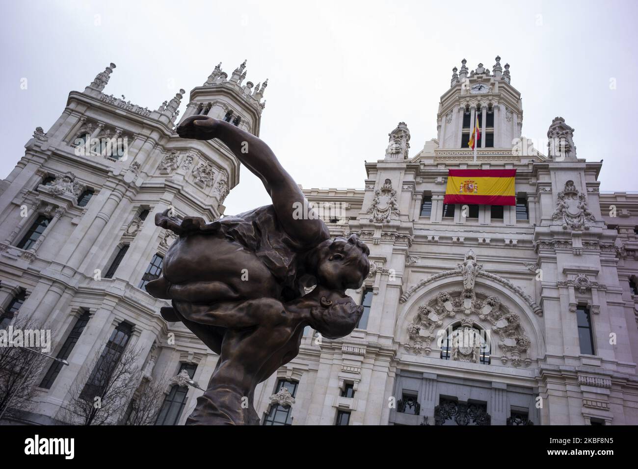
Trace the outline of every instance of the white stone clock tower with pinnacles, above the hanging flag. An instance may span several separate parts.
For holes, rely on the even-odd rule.
[[[521,138],[521,93],[510,84],[510,66],[501,67],[496,57],[492,70],[479,64],[468,70],[452,69],[450,89],[441,96],[437,114],[440,149],[468,149],[474,123],[480,126],[481,149],[508,149]]]

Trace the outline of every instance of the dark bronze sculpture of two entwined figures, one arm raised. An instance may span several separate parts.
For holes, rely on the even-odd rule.
[[[369,272],[369,249],[357,235],[329,230],[262,140],[236,126],[194,115],[182,138],[219,138],[263,182],[272,205],[212,223],[156,214],[156,225],[179,235],[162,275],[147,292],[172,300],[161,315],[181,321],[219,354],[209,387],[186,424],[259,424],[258,383],[299,353],[306,325],[323,337],[350,334],[363,308],[345,294]],[[304,207],[299,216],[299,207]],[[304,289],[316,285],[304,294]]]

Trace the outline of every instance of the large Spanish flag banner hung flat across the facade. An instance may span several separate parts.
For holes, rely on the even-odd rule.
[[[450,169],[443,204],[516,205],[515,169]]]

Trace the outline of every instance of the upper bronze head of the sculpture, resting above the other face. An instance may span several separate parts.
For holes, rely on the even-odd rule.
[[[308,267],[317,283],[330,290],[361,287],[370,271],[370,249],[357,235],[327,239],[308,254]]]

